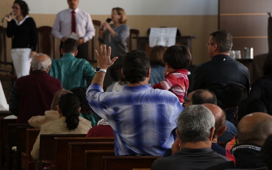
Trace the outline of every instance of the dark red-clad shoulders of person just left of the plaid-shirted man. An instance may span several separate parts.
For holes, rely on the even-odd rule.
[[[113,129],[106,120],[101,119],[97,126],[89,129],[86,137],[114,137]]]

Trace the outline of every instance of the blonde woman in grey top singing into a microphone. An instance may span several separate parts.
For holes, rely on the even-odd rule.
[[[100,25],[99,41],[107,47],[111,47],[111,58],[118,57],[114,63],[122,63],[125,54],[128,52],[128,38],[130,27],[127,23],[126,12],[122,8],[113,8],[111,12],[113,24],[104,22]],[[103,29],[106,27],[106,30]]]

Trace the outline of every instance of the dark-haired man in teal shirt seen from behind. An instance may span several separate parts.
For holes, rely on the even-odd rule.
[[[49,75],[62,81],[66,90],[75,87],[87,88],[87,82],[92,82],[95,71],[89,62],[76,58],[78,43],[74,39],[65,40],[62,48],[64,54],[60,59],[53,59]]]

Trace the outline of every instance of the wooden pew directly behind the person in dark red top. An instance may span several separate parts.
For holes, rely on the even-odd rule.
[[[67,170],[69,142],[114,142],[114,138],[55,138],[54,163],[51,165],[52,169],[57,167],[58,170]]]

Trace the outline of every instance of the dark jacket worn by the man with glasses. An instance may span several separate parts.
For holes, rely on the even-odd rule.
[[[218,106],[223,107],[222,90],[229,83],[240,83],[250,88],[248,68],[229,55],[216,55],[210,61],[196,67],[193,90],[207,89],[217,97]]]

